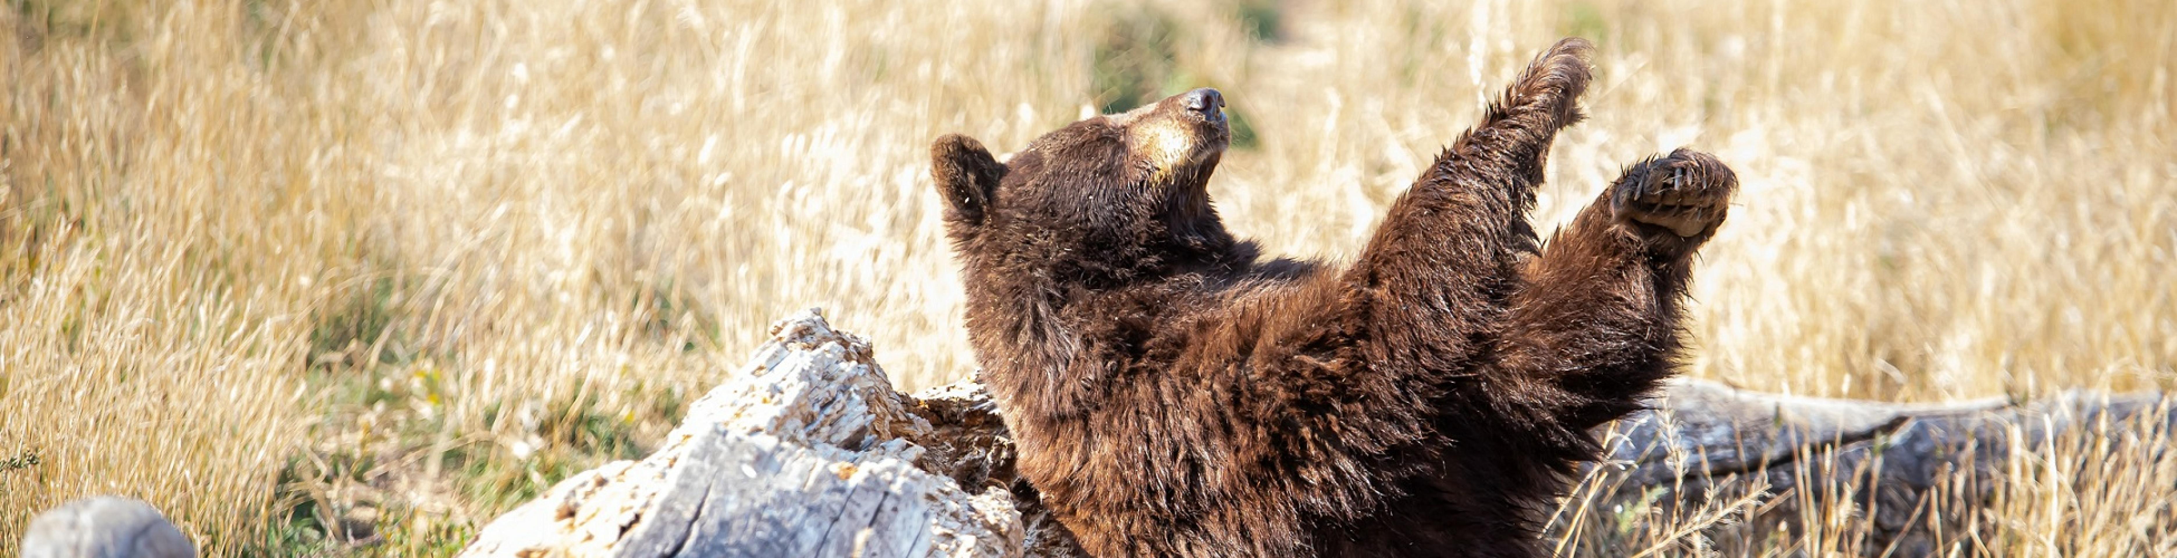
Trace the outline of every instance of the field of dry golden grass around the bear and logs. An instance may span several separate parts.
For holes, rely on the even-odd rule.
[[[1254,132],[1226,219],[1348,254],[1561,35],[1602,78],[1543,219],[1674,145],[1744,180],[1694,373],[1885,400],[2177,376],[2162,0],[7,4],[0,458],[39,465],[0,471],[0,554],[85,493],[218,554],[337,551],[311,532],[340,521],[442,554],[636,452],[803,306],[906,386],[960,378],[940,132],[1010,150],[1221,87]],[[2138,549],[2112,532],[2177,486],[2144,443],[2020,462],[2001,554]]]

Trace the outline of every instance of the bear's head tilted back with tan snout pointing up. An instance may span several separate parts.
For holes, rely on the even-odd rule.
[[[1006,163],[964,135],[940,137],[930,156],[945,232],[971,274],[1097,287],[1230,250],[1206,189],[1230,137],[1223,96],[1195,89],[1073,122]]]

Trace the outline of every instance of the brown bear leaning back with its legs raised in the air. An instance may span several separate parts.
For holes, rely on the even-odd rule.
[[[932,145],[982,380],[1019,473],[1093,556],[1543,556],[1589,428],[1672,373],[1694,248],[1737,185],[1631,165],[1541,243],[1543,156],[1589,43],[1537,56],[1350,265],[1263,258],[1206,182],[1195,89],[1008,163]]]

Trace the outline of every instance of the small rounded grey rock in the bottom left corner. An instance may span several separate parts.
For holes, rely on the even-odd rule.
[[[196,545],[150,504],[98,495],[30,519],[22,558],[196,558]]]

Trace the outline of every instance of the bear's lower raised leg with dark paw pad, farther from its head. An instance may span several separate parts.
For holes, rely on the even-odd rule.
[[[1676,150],[1635,163],[1524,265],[1498,337],[1504,382],[1552,391],[1578,434],[1641,406],[1674,373],[1694,250],[1724,221],[1737,178]]]

